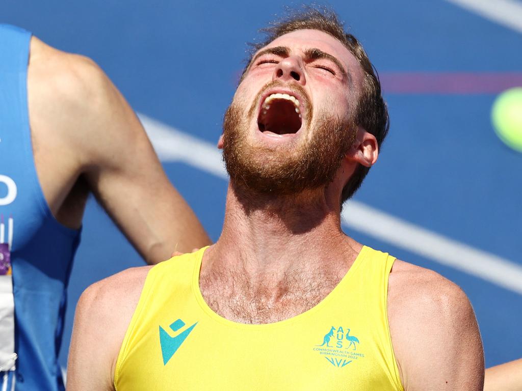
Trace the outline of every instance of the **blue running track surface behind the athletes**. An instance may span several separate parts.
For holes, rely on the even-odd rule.
[[[522,30],[489,18],[487,11],[479,15],[461,8],[455,4],[459,2],[474,3],[330,2],[381,74],[392,118],[379,162],[355,201],[508,260],[520,271],[522,154],[496,138],[489,115],[497,93],[522,85]],[[136,111],[199,141],[215,143],[242,69],[245,42],[282,8],[275,1],[185,3],[189,2],[2,0],[0,22],[93,58]],[[517,0],[500,3],[521,6]],[[173,158],[164,159],[164,168],[217,239],[226,180]],[[366,245],[432,268],[460,285],[477,313],[488,366],[522,356],[520,290],[477,277],[473,259],[462,260],[468,270],[462,271],[371,230],[347,225],[346,231]],[[61,350],[64,366],[81,291],[141,264],[91,200],[70,281]]]

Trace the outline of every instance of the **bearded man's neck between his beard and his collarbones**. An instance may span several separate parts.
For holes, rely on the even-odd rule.
[[[229,185],[223,230],[208,266],[241,270],[252,284],[265,285],[296,271],[339,271],[339,263],[343,274],[360,245],[342,233],[339,201],[330,192],[267,196]]]

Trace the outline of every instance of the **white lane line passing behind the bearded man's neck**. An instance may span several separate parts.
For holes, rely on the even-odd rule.
[[[189,136],[143,114],[140,116],[152,145],[163,162],[181,161],[228,180],[215,145]],[[358,201],[349,201],[343,225],[482,278],[522,295],[522,266],[408,223]]]

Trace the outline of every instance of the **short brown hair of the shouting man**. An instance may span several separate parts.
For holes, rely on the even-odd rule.
[[[262,42],[251,43],[250,58],[243,70],[243,76],[250,66],[253,55],[262,47],[274,41],[281,35],[295,30],[312,29],[330,34],[344,44],[348,50],[357,58],[364,71],[364,82],[359,96],[359,102],[354,113],[354,123],[361,126],[377,139],[379,149],[389,129],[389,116],[386,103],[381,92],[381,82],[377,71],[370,62],[364,48],[353,36],[345,32],[337,14],[330,8],[319,8],[316,6],[304,6],[303,9],[287,9],[287,16],[270,23],[270,26],[260,30],[265,33],[266,38]],[[242,76],[242,78],[243,78]],[[362,184],[364,177],[368,174],[370,167],[359,165],[342,189],[341,205],[353,196]]]

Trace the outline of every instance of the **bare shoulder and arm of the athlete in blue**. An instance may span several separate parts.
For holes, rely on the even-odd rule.
[[[135,113],[92,60],[33,38],[29,81],[39,176],[59,220],[74,214],[58,210],[85,182],[148,263],[209,244]]]

